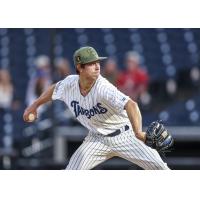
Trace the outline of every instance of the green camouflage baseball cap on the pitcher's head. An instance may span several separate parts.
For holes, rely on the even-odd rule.
[[[74,65],[87,64],[94,61],[104,60],[107,57],[99,57],[93,47],[81,47],[74,53]]]

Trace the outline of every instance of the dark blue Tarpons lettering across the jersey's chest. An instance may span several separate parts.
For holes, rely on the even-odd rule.
[[[79,115],[85,115],[88,119],[96,114],[104,114],[108,111],[107,108],[104,108],[101,105],[101,103],[97,103],[96,106],[93,106],[91,109],[88,110],[81,107],[78,101],[72,101],[71,107],[74,108],[74,113],[76,117],[78,117]]]

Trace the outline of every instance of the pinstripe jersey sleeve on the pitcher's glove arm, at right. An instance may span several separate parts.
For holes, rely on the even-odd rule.
[[[130,99],[129,96],[120,92],[114,85],[108,84],[102,87],[102,100],[118,112],[124,110],[124,106]]]

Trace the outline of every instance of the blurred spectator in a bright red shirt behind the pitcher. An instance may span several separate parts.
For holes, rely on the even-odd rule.
[[[117,81],[118,88],[133,100],[146,101],[149,75],[140,66],[140,55],[137,52],[127,52],[125,55],[125,68]]]

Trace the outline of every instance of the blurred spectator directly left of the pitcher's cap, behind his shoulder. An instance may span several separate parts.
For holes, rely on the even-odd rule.
[[[54,73],[55,82],[64,79],[71,73],[71,67],[69,61],[65,58],[55,59],[54,66],[55,66],[55,73]]]

